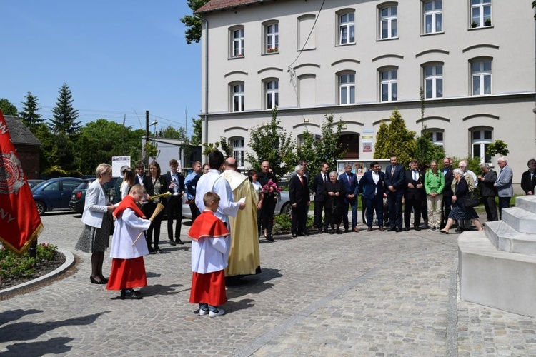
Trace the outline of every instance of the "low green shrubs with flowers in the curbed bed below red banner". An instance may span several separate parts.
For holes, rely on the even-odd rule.
[[[52,261],[58,248],[52,244],[41,243],[36,247],[36,258],[30,258],[28,251],[17,256],[10,249],[2,246],[0,249],[0,280],[16,278],[31,278],[41,261]]]

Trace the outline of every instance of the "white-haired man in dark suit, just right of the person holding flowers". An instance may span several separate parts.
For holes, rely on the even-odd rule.
[[[290,178],[289,198],[292,207],[292,237],[309,236],[307,234],[307,211],[309,211],[309,184],[304,176],[302,165],[297,165],[296,174]]]

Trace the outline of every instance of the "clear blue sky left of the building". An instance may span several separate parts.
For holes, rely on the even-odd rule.
[[[145,129],[148,110],[157,130],[192,134],[201,47],[184,39],[185,14],[186,0],[0,0],[0,98],[21,110],[31,92],[49,119],[66,83],[83,125],[126,116]]]

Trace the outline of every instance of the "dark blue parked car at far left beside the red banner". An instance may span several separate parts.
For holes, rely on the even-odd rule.
[[[69,209],[71,193],[82,182],[81,178],[59,177],[39,183],[31,189],[39,216],[57,209]]]

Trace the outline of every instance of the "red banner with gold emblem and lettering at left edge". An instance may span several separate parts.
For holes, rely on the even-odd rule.
[[[0,110],[0,241],[21,255],[43,229],[34,196]]]

